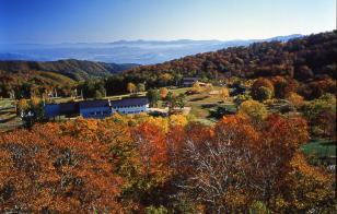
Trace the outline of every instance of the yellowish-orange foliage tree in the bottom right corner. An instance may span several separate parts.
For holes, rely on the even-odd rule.
[[[297,152],[291,159],[289,174],[289,197],[276,199],[272,204],[280,213],[315,210],[317,213],[334,213],[335,192],[332,175],[310,166],[302,152]],[[323,206],[321,204],[324,204]]]

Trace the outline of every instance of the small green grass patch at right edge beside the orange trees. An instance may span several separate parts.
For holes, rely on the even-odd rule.
[[[336,157],[336,142],[329,140],[311,141],[302,146],[304,154],[317,153],[321,157]]]

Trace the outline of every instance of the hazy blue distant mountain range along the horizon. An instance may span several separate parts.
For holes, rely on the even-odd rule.
[[[0,60],[56,61],[77,59],[107,63],[153,64],[189,55],[214,51],[228,47],[248,46],[253,43],[288,41],[303,35],[293,34],[267,39],[248,40],[118,40],[113,43],[77,44],[0,44]]]

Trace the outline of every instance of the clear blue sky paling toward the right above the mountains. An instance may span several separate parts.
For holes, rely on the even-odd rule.
[[[336,0],[0,0],[0,43],[251,39],[336,28]]]

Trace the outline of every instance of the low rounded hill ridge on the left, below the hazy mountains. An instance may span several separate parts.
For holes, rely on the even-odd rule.
[[[115,64],[104,62],[59,60],[37,61],[0,61],[1,80],[30,81],[40,80],[44,83],[59,83],[92,80],[108,76],[138,64]],[[15,80],[16,79],[16,80]]]

